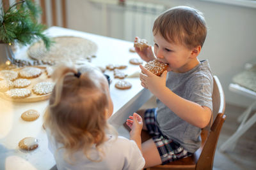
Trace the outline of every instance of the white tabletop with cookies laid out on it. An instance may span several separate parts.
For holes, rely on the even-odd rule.
[[[61,27],[51,27],[47,30],[50,36],[79,36],[90,39],[97,43],[97,57],[92,59],[92,64],[96,66],[106,66],[107,64],[126,64],[128,67],[125,73],[131,74],[140,71],[138,66],[129,64],[129,59],[138,57],[135,53],[129,52],[132,42],[113,39],[86,32],[64,29]],[[17,53],[17,58],[28,59],[26,50],[23,47]],[[110,85],[111,97],[114,104],[114,113],[109,122],[115,127],[122,125],[128,115],[138,110],[151,96],[147,89],[140,85],[139,78],[125,78],[132,83],[129,90],[118,90],[115,88],[117,79],[113,78],[113,72],[107,71],[112,78]],[[0,99],[0,169],[51,169],[55,165],[54,157],[48,150],[47,138],[42,129],[43,115],[48,101],[35,103],[12,103]],[[40,117],[33,122],[25,122],[20,115],[29,109],[40,112]],[[31,152],[19,150],[20,139],[35,137],[39,140],[39,147]]]

